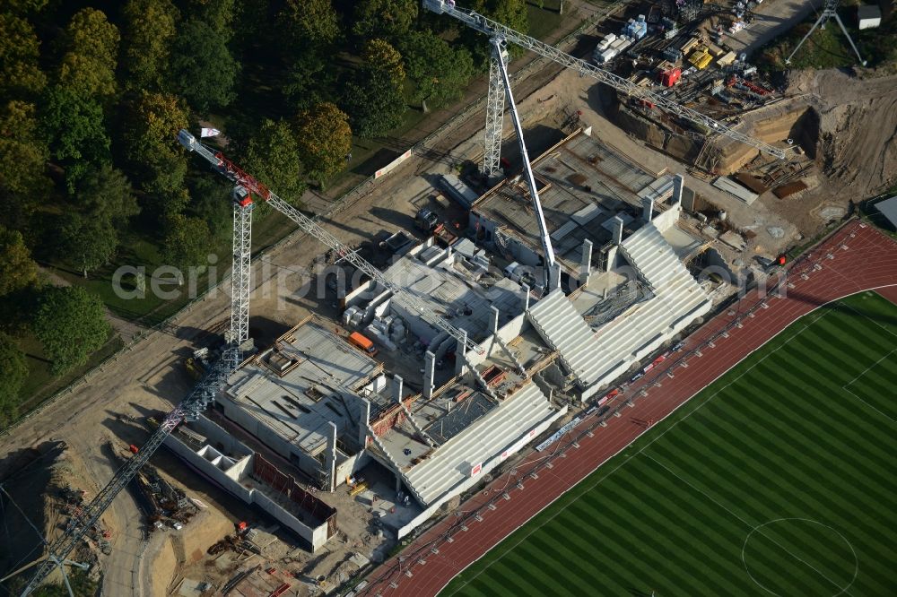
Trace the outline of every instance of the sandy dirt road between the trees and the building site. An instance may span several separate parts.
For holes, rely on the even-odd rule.
[[[518,97],[523,99],[538,89],[558,70],[559,67],[539,69],[525,80],[516,81]],[[423,155],[405,162],[334,219],[325,218],[322,223],[348,245],[356,245],[381,229],[410,229],[414,212],[428,201],[431,193],[430,182],[419,173],[447,172],[457,160],[471,157],[453,155],[451,151],[482,127],[482,110],[467,113],[457,125],[432,139]],[[270,336],[311,311],[335,316],[327,299],[318,299],[315,292],[307,292],[307,268],[313,257],[321,253],[322,247],[315,239],[302,236],[256,260],[250,312],[265,315],[252,316],[250,329],[265,330]],[[116,437],[118,441],[140,445],[146,437],[142,428],[122,420],[121,415],[141,418],[152,411],[168,411],[179,402],[192,385],[183,370],[182,359],[205,340],[206,329],[227,319],[229,307],[226,292],[210,294],[167,329],[150,334],[117,361],[107,364],[89,383],[75,388],[0,437],[0,454],[34,446],[50,437],[63,439],[83,462],[81,470],[76,472],[82,477],[78,485],[95,495],[115,470],[108,455],[101,450],[106,440]],[[214,501],[202,492],[193,494]],[[103,515],[102,523],[113,532],[116,551],[106,560],[108,592],[135,592],[128,586],[134,582],[132,571],[136,569],[143,539],[141,515],[133,498],[119,497],[115,506]]]

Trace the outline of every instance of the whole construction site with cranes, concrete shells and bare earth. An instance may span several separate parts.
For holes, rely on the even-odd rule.
[[[789,247],[897,171],[893,76],[849,97],[842,73],[773,82],[736,43],[782,1],[618,3],[575,57],[427,0],[490,45],[479,120],[450,160],[414,155],[329,219],[174,132],[234,187],[231,292],[184,317],[200,332],[160,333],[80,390],[78,431],[57,412],[4,438],[15,594],[76,567],[105,594],[346,591],[777,283]],[[516,100],[509,44],[564,68]],[[290,276],[285,306],[262,292],[260,203],[305,233],[271,259],[323,255],[317,297]]]

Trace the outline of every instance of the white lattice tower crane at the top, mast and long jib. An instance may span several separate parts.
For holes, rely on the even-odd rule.
[[[471,29],[480,31],[490,37],[504,39],[508,43],[516,44],[521,48],[532,50],[536,52],[536,54],[544,56],[549,60],[553,60],[553,62],[556,62],[559,65],[571,68],[584,76],[592,77],[598,82],[603,82],[617,91],[622,91],[633,98],[646,99],[670,114],[690,120],[698,125],[705,126],[711,131],[718,134],[724,134],[739,143],[750,145],[778,160],[784,160],[786,157],[786,150],[784,149],[775,147],[769,143],[763,143],[759,139],[754,139],[747,134],[740,133],[713,118],[701,114],[701,112],[698,112],[697,110],[686,108],[672,99],[668,99],[654,91],[649,91],[640,87],[634,82],[624,79],[617,74],[605,71],[595,65],[590,65],[585,60],[570,56],[558,48],[554,48],[538,39],[531,38],[523,33],[512,30],[508,26],[503,25],[500,22],[492,21],[492,19],[489,19],[480,13],[461,8],[455,4],[454,0],[422,0],[422,4],[423,8],[433,13],[448,14]],[[489,68],[489,91],[486,96],[486,134],[483,156],[483,173],[486,176],[493,176],[497,173],[501,158],[501,113],[503,108],[503,105],[501,104],[501,100],[503,99],[503,94],[501,94],[502,83],[501,69],[496,63],[496,57],[493,53]]]

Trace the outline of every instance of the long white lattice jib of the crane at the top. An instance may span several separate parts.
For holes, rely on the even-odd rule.
[[[512,30],[506,25],[502,25],[500,22],[492,21],[492,19],[489,19],[480,13],[475,13],[474,11],[467,10],[465,8],[459,8],[455,5],[455,2],[453,0],[422,0],[422,3],[425,9],[430,10],[433,13],[448,14],[458,21],[463,22],[467,27],[470,27],[471,29],[480,31],[481,33],[485,33],[491,38],[496,36],[501,37],[509,43],[516,44],[521,48],[532,50],[540,56],[544,56],[549,60],[553,60],[559,65],[571,68],[579,72],[579,74],[590,76],[593,79],[596,79],[598,82],[603,82],[606,85],[613,87],[615,90],[622,91],[623,93],[626,93],[631,97],[649,99],[652,103],[657,105],[659,108],[663,108],[670,114],[685,118],[686,120],[690,120],[698,125],[705,126],[711,131],[718,134],[724,134],[727,137],[736,140],[737,142],[750,145],[751,147],[767,153],[777,158],[778,160],[784,160],[786,157],[786,151],[780,149],[779,147],[775,147],[774,145],[771,145],[769,143],[763,143],[759,139],[754,139],[747,134],[739,133],[731,127],[723,125],[713,118],[701,114],[701,112],[698,112],[697,110],[686,108],[676,103],[672,99],[667,99],[665,96],[640,87],[634,82],[628,81],[627,79],[624,79],[619,75],[605,71],[604,69],[598,68],[595,65],[590,65],[585,60],[581,60],[575,56],[570,56],[569,54],[562,52],[558,48],[554,48],[553,46],[549,46],[548,44],[539,41],[538,39],[531,38],[527,35],[524,35],[523,33]],[[492,173],[486,172],[486,174],[488,175]]]

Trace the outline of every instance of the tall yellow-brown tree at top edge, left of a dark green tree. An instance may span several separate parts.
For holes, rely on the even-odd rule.
[[[122,16],[126,86],[134,90],[161,88],[171,41],[177,33],[178,9],[170,0],[129,0]],[[195,42],[201,44],[199,39]]]

